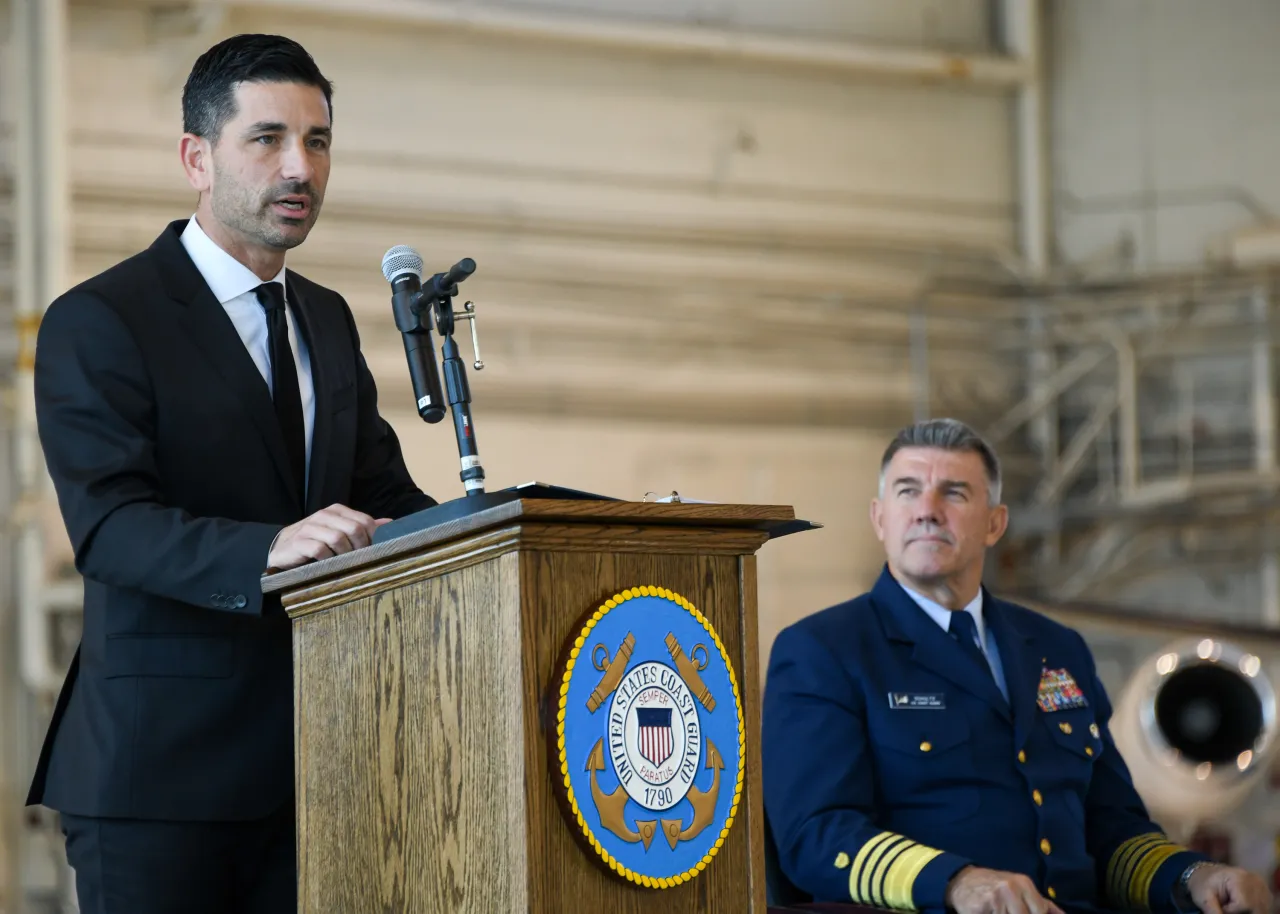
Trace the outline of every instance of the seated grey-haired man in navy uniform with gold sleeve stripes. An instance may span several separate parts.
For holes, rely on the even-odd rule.
[[[870,516],[876,586],[786,629],[769,661],[764,801],[795,886],[957,914],[1270,913],[1261,878],[1149,821],[1084,640],[982,589],[1007,525],[982,438],[904,429]]]

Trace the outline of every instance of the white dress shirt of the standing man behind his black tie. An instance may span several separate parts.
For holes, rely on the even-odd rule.
[[[182,246],[187,248],[192,262],[205,278],[209,288],[212,289],[214,298],[227,310],[227,316],[236,325],[236,332],[244,341],[244,348],[257,366],[266,389],[271,390],[271,346],[266,329],[266,311],[257,301],[255,289],[262,284],[252,270],[227,253],[218,243],[205,234],[191,218],[187,228],[182,233]],[[306,433],[306,467],[311,475],[311,435],[315,429],[316,398],[315,387],[311,383],[311,353],[307,352],[306,342],[298,333],[297,315],[289,305],[288,285],[284,282],[284,268],[271,280],[284,287],[284,312],[289,324],[289,348],[293,349],[293,362],[298,370],[298,394],[302,397],[302,428]]]

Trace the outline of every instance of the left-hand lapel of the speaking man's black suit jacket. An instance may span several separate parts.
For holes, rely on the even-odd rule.
[[[161,283],[169,297],[186,306],[179,323],[191,342],[209,358],[214,370],[236,394],[271,454],[280,484],[294,492],[293,474],[284,451],[284,435],[275,419],[275,406],[262,375],[236,332],[227,310],[218,302],[191,256],[182,246],[187,220],[172,223],[151,246]],[[291,495],[292,498],[292,495]],[[296,498],[293,499],[297,501]],[[302,506],[297,506],[300,509]]]

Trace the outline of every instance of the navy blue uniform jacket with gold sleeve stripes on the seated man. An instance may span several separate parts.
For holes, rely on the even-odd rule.
[[[782,870],[818,900],[941,910],[974,864],[1024,873],[1069,911],[1172,911],[1202,858],[1149,821],[1084,640],[987,591],[983,617],[1009,702],[887,568],[778,635],[763,750]],[[1083,703],[1044,710],[1041,682],[1062,671]]]

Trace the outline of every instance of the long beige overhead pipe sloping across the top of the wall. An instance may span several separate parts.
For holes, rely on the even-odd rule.
[[[755,65],[826,69],[913,82],[1012,90],[1030,79],[1024,61],[997,55],[678,26],[641,19],[532,13],[498,4],[439,0],[225,0],[243,9],[330,13],[499,38],[553,41],[605,51]]]

